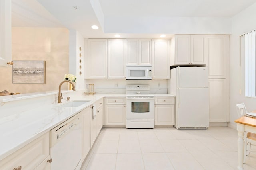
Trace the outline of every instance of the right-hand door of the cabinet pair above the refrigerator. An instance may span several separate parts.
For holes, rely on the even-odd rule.
[[[206,64],[206,35],[190,35],[190,64]]]

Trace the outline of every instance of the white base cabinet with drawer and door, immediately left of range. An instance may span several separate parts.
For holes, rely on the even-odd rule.
[[[105,98],[105,125],[126,125],[126,98]]]

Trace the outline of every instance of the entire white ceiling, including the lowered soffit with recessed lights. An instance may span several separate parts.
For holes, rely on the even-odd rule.
[[[85,38],[114,38],[116,33],[121,38],[159,38],[162,33],[170,38],[177,30],[190,33],[188,29],[182,32],[181,21],[194,29],[198,29],[196,21],[216,21],[213,29],[227,23],[228,28],[230,17],[254,3],[256,0],[12,0],[12,26],[67,27]],[[100,28],[93,30],[92,25]]]

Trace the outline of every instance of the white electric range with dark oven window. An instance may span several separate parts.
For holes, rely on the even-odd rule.
[[[154,128],[154,95],[149,85],[126,85],[126,128]]]

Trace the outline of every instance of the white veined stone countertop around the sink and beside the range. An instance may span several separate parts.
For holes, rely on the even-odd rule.
[[[174,97],[171,94],[154,94],[155,97]],[[68,120],[103,97],[126,97],[126,94],[83,95],[75,100],[90,100],[79,107],[48,107],[28,109],[0,119],[0,160],[24,147],[31,141]],[[72,101],[72,100],[71,100]],[[70,101],[70,102],[71,102]]]

